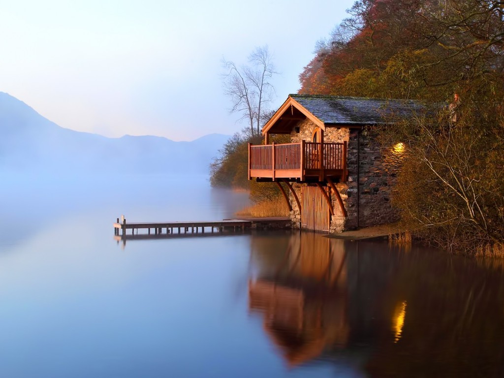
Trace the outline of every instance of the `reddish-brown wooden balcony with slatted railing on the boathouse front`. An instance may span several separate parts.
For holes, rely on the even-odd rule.
[[[347,143],[301,143],[248,146],[248,179],[275,181],[346,181]]]

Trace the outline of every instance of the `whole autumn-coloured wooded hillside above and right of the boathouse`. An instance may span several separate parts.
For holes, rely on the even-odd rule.
[[[377,130],[384,147],[405,146],[393,203],[436,245],[504,254],[504,2],[359,0],[347,12],[299,93],[432,106]]]

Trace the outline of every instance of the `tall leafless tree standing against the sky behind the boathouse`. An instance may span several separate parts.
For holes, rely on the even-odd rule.
[[[256,47],[248,56],[248,65],[236,67],[233,61],[222,59],[222,67],[228,72],[223,75],[224,93],[232,101],[231,113],[246,119],[251,136],[259,136],[267,104],[275,92],[270,80],[278,74],[268,46]]]

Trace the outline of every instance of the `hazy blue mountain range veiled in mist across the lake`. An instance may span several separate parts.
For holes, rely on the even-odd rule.
[[[154,136],[106,138],[61,128],[0,92],[0,169],[206,173],[228,138],[221,134],[192,142]]]

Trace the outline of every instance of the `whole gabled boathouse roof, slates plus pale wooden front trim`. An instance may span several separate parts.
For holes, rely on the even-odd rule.
[[[326,125],[361,127],[386,123],[392,116],[411,117],[423,108],[412,100],[291,94],[265,124],[263,134],[288,133],[292,121],[304,118],[311,119],[322,129]]]

